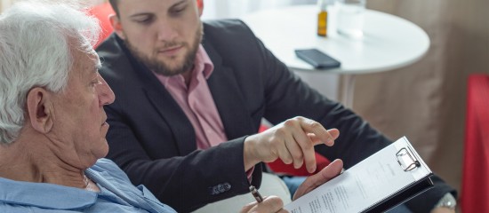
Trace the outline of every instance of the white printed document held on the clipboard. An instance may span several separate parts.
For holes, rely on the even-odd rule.
[[[363,212],[422,180],[431,183],[430,175],[431,170],[404,137],[284,209],[291,213]]]

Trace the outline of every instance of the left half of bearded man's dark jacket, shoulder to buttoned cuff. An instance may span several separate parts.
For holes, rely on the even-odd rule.
[[[104,106],[110,125],[108,158],[124,170],[133,185],[145,185],[159,201],[178,212],[248,193],[250,183],[240,166],[244,165],[245,136],[196,150],[192,138],[186,138],[193,131],[190,124],[182,124],[184,114],[168,119],[160,114],[173,115],[178,106],[169,101],[169,94],[170,98],[163,98],[157,91],[155,85],[163,86],[155,76],[132,69],[134,61],[122,48],[112,35],[97,49],[102,61],[100,75],[116,93],[114,103]],[[148,85],[151,90],[146,89]],[[149,101],[149,94],[155,95],[159,105]],[[257,165],[252,184],[260,183],[261,166]]]

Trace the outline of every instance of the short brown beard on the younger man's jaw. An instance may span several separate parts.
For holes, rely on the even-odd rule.
[[[198,50],[199,44],[202,42],[203,36],[203,26],[202,23],[200,27],[196,30],[196,39],[193,43],[190,43],[190,49],[183,60],[183,64],[180,67],[170,68],[163,61],[159,61],[158,59],[149,58],[147,55],[144,55],[142,52],[138,51],[136,47],[134,47],[128,40],[125,40],[124,43],[127,46],[127,49],[131,51],[132,55],[135,59],[138,59],[142,64],[148,67],[149,70],[155,72],[159,75],[164,76],[172,76],[172,75],[180,75],[194,67],[194,62],[196,60],[196,52]],[[168,46],[175,45],[176,43],[166,43]]]

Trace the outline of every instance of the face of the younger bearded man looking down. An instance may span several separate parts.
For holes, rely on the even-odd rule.
[[[136,58],[162,75],[193,67],[202,23],[196,0],[122,0],[116,33]]]

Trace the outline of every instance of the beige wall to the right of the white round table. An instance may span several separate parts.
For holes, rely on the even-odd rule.
[[[353,108],[389,138],[407,136],[432,170],[460,188],[467,76],[489,74],[489,1],[367,2],[421,26],[431,46],[412,66],[358,75]]]

